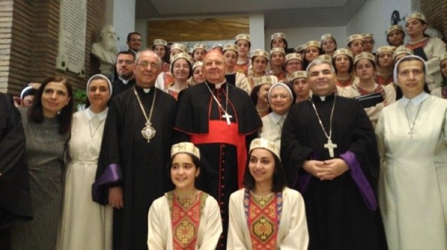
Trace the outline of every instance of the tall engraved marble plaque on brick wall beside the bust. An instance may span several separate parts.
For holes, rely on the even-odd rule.
[[[57,69],[85,77],[87,0],[61,0]]]

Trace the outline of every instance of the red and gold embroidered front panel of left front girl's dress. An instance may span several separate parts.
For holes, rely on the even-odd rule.
[[[173,249],[196,249],[200,215],[207,194],[199,192],[191,204],[182,205],[174,192],[168,192],[173,228]]]

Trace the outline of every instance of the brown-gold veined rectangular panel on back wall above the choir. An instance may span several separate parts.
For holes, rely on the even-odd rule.
[[[175,19],[149,21],[148,45],[161,38],[170,41],[233,40],[249,33],[249,17]]]

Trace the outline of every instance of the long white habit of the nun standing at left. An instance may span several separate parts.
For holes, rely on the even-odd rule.
[[[112,249],[113,209],[91,199],[107,111],[94,114],[85,109],[73,114],[57,249]]]

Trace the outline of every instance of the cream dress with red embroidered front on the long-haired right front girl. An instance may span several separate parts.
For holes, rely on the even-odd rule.
[[[256,249],[307,249],[309,234],[305,203],[298,191],[286,187],[278,193],[280,196],[276,197],[276,201],[274,196],[278,194],[272,194],[271,198],[256,198],[251,192],[248,193],[249,200],[246,189],[237,190],[230,196],[228,249],[255,249],[253,241],[258,246]],[[269,212],[261,212],[263,208]],[[273,248],[261,245],[263,242],[268,244],[270,240],[275,241]]]

